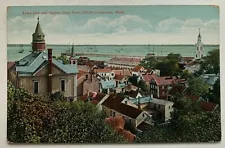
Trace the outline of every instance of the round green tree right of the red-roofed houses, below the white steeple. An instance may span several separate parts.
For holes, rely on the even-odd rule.
[[[201,96],[209,92],[209,86],[200,77],[188,79],[187,91],[191,95]]]

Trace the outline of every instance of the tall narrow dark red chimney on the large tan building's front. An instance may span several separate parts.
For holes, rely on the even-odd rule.
[[[48,49],[48,93],[52,93],[52,49]]]

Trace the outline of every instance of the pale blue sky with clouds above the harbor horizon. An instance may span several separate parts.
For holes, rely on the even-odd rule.
[[[40,12],[41,27],[50,44],[194,44],[198,28],[205,44],[219,43],[218,7],[178,5],[9,7],[8,43],[31,42],[37,15],[28,13],[33,12]]]

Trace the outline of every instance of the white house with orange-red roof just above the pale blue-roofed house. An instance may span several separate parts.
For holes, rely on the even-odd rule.
[[[114,72],[112,72],[112,70],[109,68],[94,69],[93,71],[98,79],[112,80],[115,77]]]

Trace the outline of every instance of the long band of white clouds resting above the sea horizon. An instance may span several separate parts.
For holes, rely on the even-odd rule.
[[[156,32],[151,31],[149,21],[135,15],[97,17],[82,25],[72,22],[67,15],[43,15],[40,21],[49,44],[194,44],[198,28],[204,43],[219,43],[218,20],[170,18],[159,22]],[[8,43],[29,43],[36,22],[34,17],[9,19]]]

